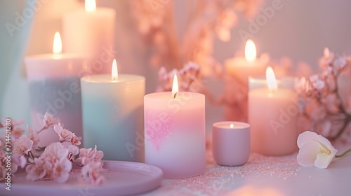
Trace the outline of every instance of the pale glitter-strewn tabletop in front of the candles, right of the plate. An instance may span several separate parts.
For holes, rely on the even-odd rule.
[[[223,167],[213,160],[211,146],[206,147],[204,174],[165,179],[143,195],[351,195],[351,153],[334,159],[327,169],[301,167],[297,153],[281,157],[251,153],[245,165]],[[343,153],[347,146],[337,149]]]

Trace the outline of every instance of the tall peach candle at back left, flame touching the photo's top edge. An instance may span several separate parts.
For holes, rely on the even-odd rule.
[[[114,43],[116,12],[112,8],[96,8],[95,0],[85,1],[85,10],[63,15],[65,52],[76,52],[94,59],[95,73],[110,73]]]

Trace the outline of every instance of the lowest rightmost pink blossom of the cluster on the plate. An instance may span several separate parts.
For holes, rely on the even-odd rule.
[[[103,171],[102,162],[89,162],[81,168],[81,176],[84,180],[90,181],[93,185],[101,185],[105,182],[105,177],[100,173]]]

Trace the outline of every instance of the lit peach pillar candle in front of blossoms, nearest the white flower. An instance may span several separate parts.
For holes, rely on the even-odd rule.
[[[287,155],[296,150],[296,92],[278,87],[274,72],[267,68],[267,87],[249,91],[251,151],[263,155]]]

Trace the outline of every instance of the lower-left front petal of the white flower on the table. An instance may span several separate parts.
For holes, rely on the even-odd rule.
[[[299,146],[296,160],[303,167],[313,166],[316,155],[319,153],[320,144],[317,141],[306,141],[303,146]]]

